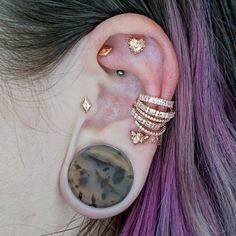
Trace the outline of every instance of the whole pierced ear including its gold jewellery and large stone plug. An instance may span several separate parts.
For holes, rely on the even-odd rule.
[[[97,81],[96,113],[74,129],[60,187],[73,209],[105,218],[127,209],[143,188],[175,115],[178,66],[164,31],[136,14],[101,23],[87,48]]]

